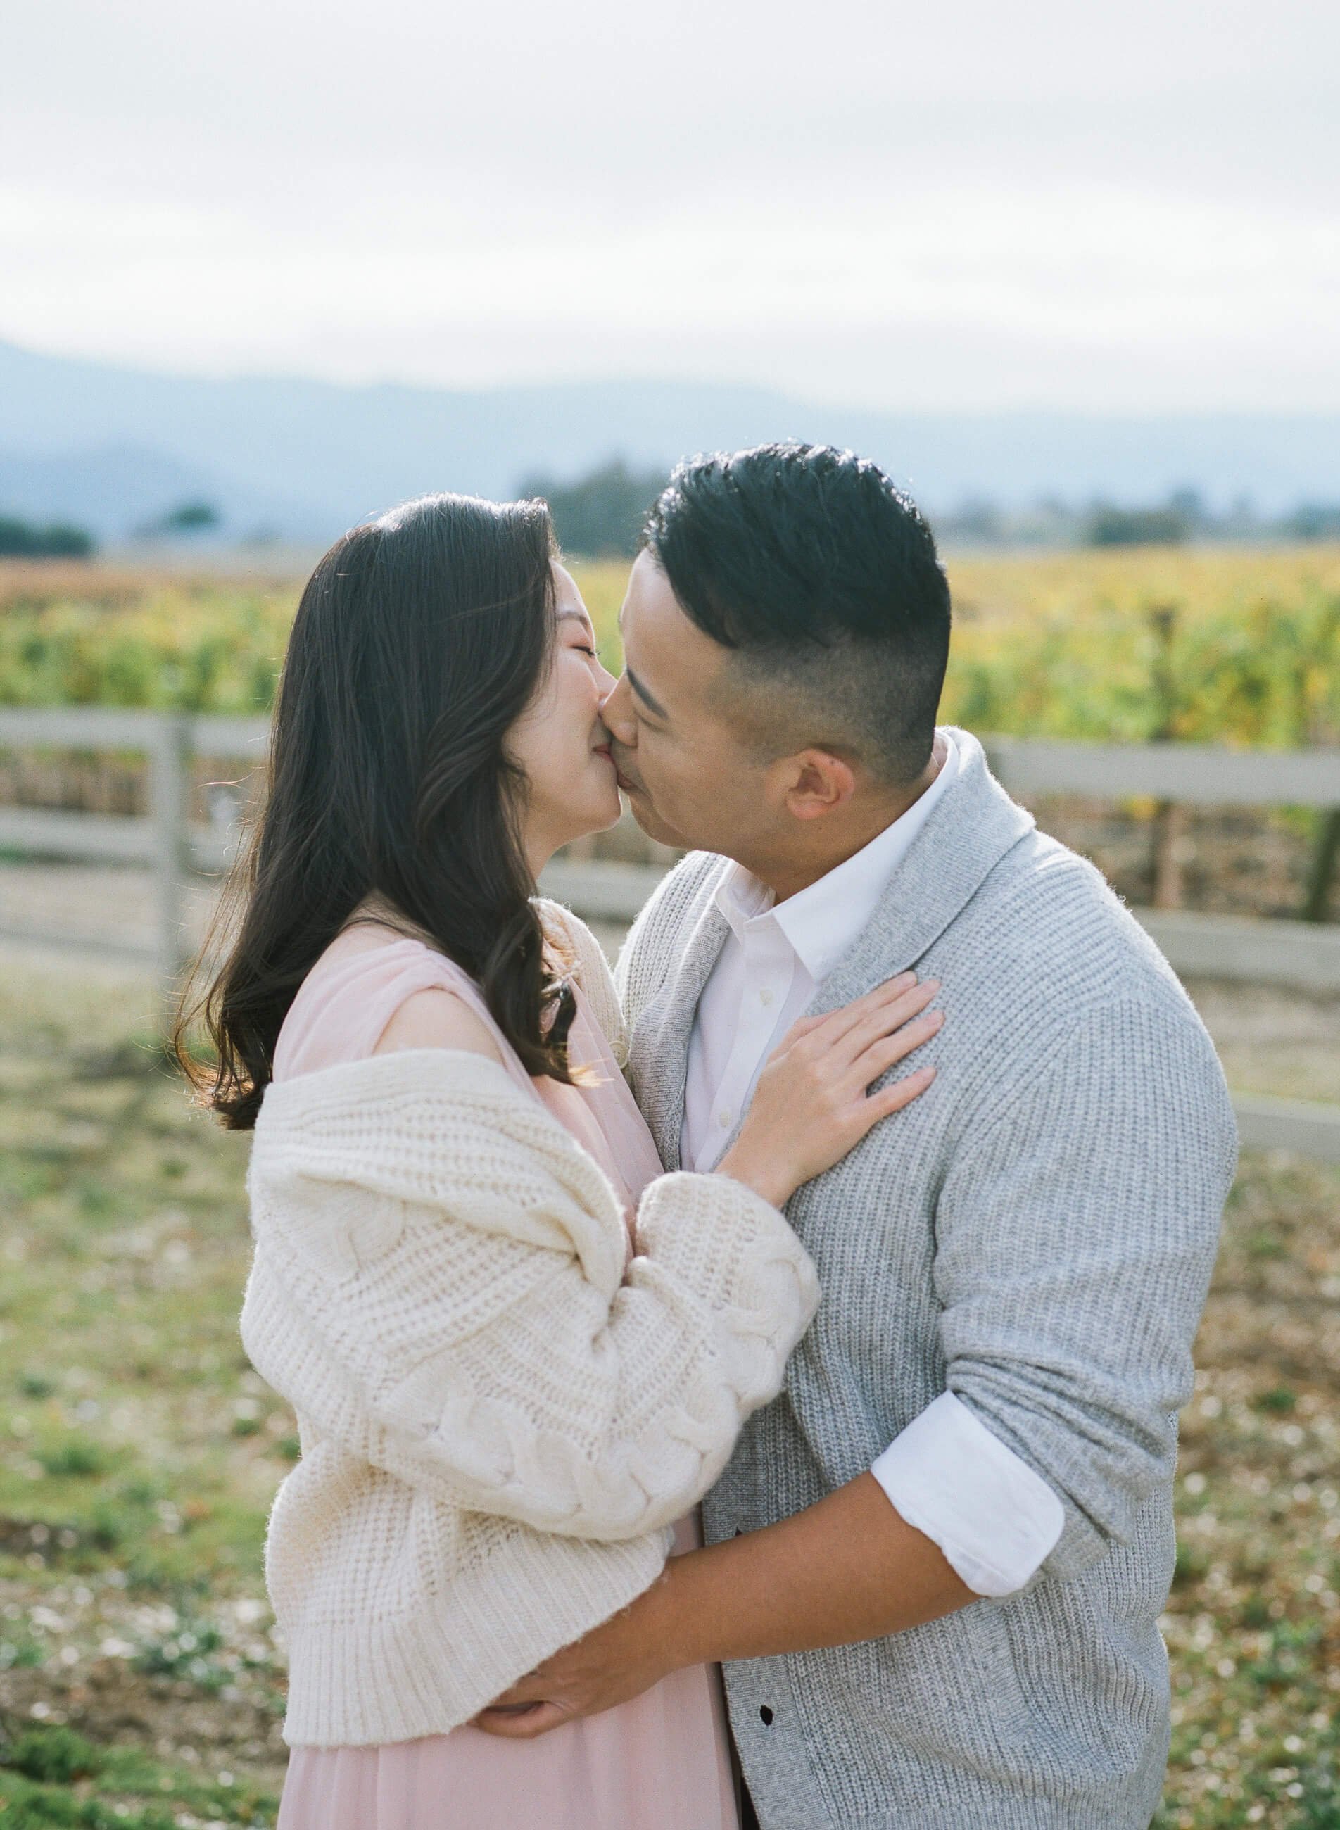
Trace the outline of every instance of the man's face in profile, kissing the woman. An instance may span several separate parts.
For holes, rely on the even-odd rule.
[[[729,650],[683,613],[650,549],[633,562],[619,628],[624,672],[600,716],[633,818],[666,845],[747,856],[782,809],[758,745],[730,717]]]

